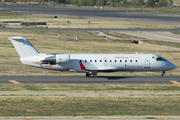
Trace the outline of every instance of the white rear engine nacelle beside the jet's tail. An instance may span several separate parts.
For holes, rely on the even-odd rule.
[[[50,64],[63,64],[68,63],[70,61],[70,55],[68,54],[57,54],[51,57],[45,58],[43,62],[47,62]]]

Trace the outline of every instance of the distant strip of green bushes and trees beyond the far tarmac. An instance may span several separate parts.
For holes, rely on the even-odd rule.
[[[173,0],[4,0],[4,2],[69,4],[77,6],[109,6],[109,7],[167,7]]]

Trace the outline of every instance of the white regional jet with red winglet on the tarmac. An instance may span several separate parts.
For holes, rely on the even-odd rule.
[[[8,38],[25,65],[38,68],[86,73],[93,78],[98,72],[165,71],[177,68],[155,54],[41,54],[24,37]]]

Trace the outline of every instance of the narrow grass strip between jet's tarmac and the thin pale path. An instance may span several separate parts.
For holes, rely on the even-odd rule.
[[[114,85],[114,84],[93,84],[93,85],[71,85],[71,84],[41,84],[41,85],[0,85],[0,92],[38,92],[38,93],[117,93],[117,92],[180,92],[179,85]]]

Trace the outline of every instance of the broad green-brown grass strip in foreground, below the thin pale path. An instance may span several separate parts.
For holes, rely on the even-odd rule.
[[[0,116],[178,116],[179,95],[1,96]]]

